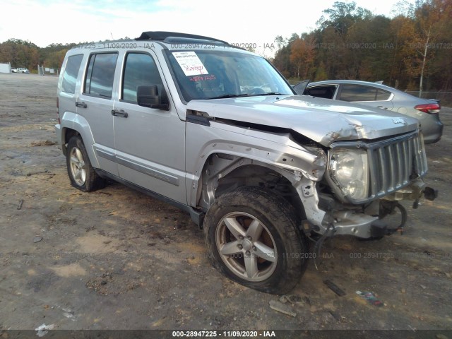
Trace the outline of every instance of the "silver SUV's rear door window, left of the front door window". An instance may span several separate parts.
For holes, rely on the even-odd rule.
[[[83,93],[111,98],[117,53],[92,54],[88,63]]]

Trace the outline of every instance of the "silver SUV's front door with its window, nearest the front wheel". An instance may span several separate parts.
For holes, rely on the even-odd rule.
[[[114,142],[119,177],[186,203],[185,121],[179,119],[152,51],[124,55],[119,100],[114,103]],[[157,85],[169,111],[137,104],[138,85]]]

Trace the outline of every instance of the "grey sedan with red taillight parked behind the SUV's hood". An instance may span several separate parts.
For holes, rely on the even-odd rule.
[[[438,101],[415,97],[380,83],[352,80],[328,80],[316,83],[303,81],[295,85],[294,89],[297,94],[355,102],[416,118],[421,124],[424,143],[436,143],[443,133],[443,124],[439,119],[441,105]]]

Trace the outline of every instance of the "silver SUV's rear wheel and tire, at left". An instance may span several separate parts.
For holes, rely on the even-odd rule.
[[[105,186],[105,179],[99,177],[91,166],[90,158],[80,136],[73,136],[69,139],[66,165],[71,185],[76,189],[90,192]]]

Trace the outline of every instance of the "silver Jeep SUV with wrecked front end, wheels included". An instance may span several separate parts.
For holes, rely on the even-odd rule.
[[[382,237],[399,201],[436,196],[417,120],[295,95],[266,59],[210,37],[74,47],[58,105],[73,186],[113,179],[182,208],[215,266],[263,292],[299,282],[308,237]]]

